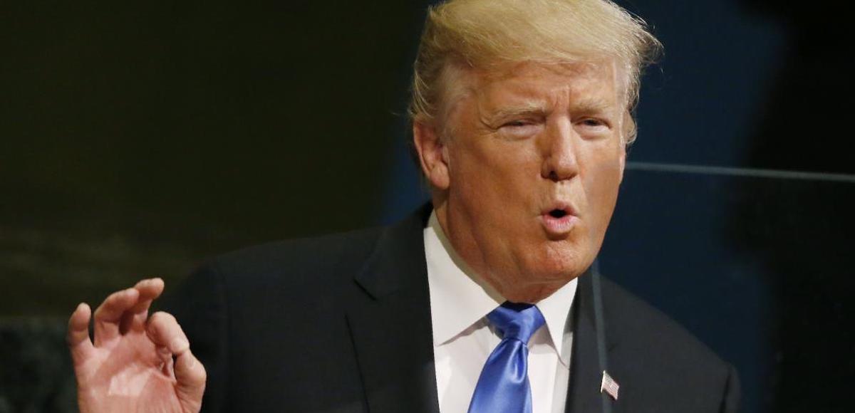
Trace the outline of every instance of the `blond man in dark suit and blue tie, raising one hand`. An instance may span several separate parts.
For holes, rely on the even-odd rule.
[[[81,304],[81,411],[734,411],[727,363],[589,270],[657,47],[604,0],[432,9],[410,110],[432,205],[219,257],[177,320],[140,281],[94,345]]]

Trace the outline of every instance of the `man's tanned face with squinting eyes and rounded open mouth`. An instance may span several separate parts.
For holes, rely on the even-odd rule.
[[[610,63],[469,71],[436,128],[451,136],[419,145],[446,235],[504,298],[538,301],[593,263],[625,160],[617,75]]]

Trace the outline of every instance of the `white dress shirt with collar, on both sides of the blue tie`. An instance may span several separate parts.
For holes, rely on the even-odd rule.
[[[433,359],[441,413],[465,413],[481,369],[501,341],[486,315],[504,303],[498,292],[463,263],[436,214],[424,230],[428,263]],[[570,375],[576,280],[536,303],[545,324],[528,341],[533,413],[563,413]]]

